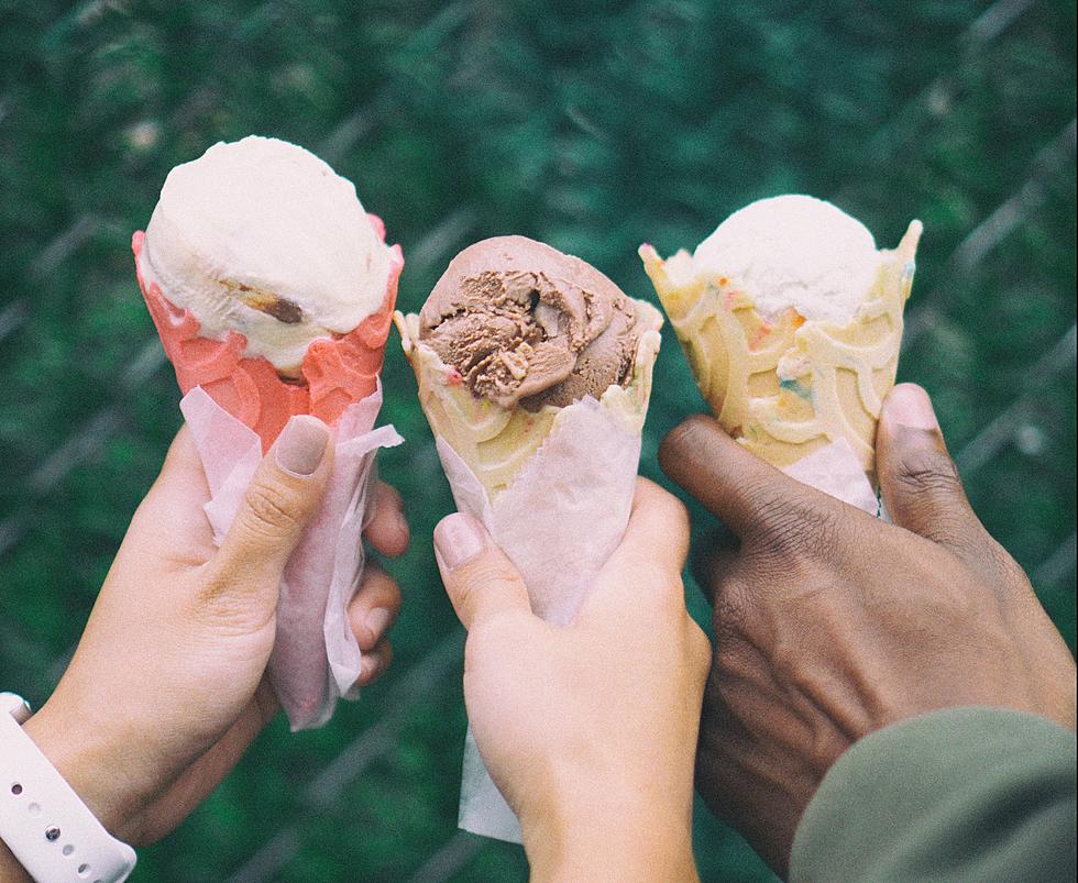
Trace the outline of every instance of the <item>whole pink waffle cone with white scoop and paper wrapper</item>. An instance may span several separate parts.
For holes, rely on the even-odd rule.
[[[267,676],[293,729],[352,696],[362,652],[348,606],[361,536],[400,247],[351,181],[295,144],[249,136],[176,166],[132,250],[139,287],[176,372],[220,545],[289,418],[330,426],[332,470],[284,566]]]

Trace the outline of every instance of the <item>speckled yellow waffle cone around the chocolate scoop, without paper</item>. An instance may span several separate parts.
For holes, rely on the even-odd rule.
[[[641,325],[648,330],[640,335],[632,376],[624,387],[609,387],[600,402],[617,415],[629,431],[639,433],[648,412],[662,316],[646,301],[635,303]],[[400,331],[405,355],[416,372],[419,402],[431,430],[468,464],[493,500],[539,450],[564,409],[551,405],[538,411],[519,406],[507,409],[472,395],[461,382],[460,373],[420,342],[417,314],[396,312],[394,321]]]

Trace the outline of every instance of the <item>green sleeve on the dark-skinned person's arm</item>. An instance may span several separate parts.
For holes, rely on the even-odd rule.
[[[952,708],[865,737],[809,803],[790,879],[1075,880],[1075,735]]]

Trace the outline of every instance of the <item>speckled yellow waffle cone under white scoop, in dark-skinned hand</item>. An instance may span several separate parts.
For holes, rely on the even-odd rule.
[[[663,261],[642,245],[640,257],[723,429],[779,467],[845,439],[875,484],[876,423],[894,385],[921,229],[913,221],[899,247],[882,253],[847,324],[805,321],[792,309],[768,322],[750,293],[697,273],[686,252]]]

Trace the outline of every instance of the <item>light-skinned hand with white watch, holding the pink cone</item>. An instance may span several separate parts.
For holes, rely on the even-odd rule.
[[[264,457],[221,548],[202,511],[209,490],[179,431],[135,512],[70,666],[25,725],[117,837],[158,839],[231,770],[277,711],[264,680],[285,562],[318,508],[333,449],[315,418],[293,418]],[[400,554],[408,528],[380,484],[365,531]],[[359,540],[358,540],[359,541]],[[369,566],[349,607],[364,653],[360,683],[388,665],[396,584]]]

